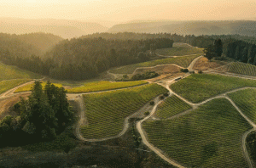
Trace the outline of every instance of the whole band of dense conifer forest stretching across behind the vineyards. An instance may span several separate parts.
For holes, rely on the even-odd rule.
[[[43,43],[48,41],[46,39],[51,43],[40,45],[35,41],[36,35],[44,39]],[[256,38],[253,36],[180,36],[170,33],[124,32],[96,33],[61,42],[61,38],[47,34],[32,34],[30,37],[24,35],[19,38],[17,35],[1,34],[1,36],[3,38],[0,38],[0,60],[4,64],[16,65],[60,80],[90,79],[112,67],[148,61],[154,55],[152,51],[172,48],[173,42],[185,42],[195,47],[208,48],[210,51],[209,46],[219,39],[222,42],[221,53],[224,56],[244,63],[256,64],[254,59]],[[29,42],[20,40],[25,37]],[[48,52],[44,51],[42,55],[42,50],[35,47],[36,44],[41,49],[48,48]]]

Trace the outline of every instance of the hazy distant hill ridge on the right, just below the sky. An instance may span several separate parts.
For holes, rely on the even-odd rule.
[[[256,36],[256,21],[158,21],[113,25],[108,32],[177,33],[181,35],[222,35],[239,34]]]

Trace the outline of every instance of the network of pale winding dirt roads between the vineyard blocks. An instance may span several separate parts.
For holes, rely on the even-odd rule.
[[[201,57],[202,57],[202,56],[201,56]],[[189,64],[189,68],[188,68],[188,69],[189,69],[189,70],[193,70],[193,67],[194,67],[196,61],[199,60],[199,59],[201,59],[201,57],[198,57],[198,58],[194,59],[194,60],[192,61],[192,63]],[[177,66],[178,66],[178,65],[177,65]],[[180,66],[178,66],[178,67],[180,67]],[[182,68],[183,68],[183,67],[182,67]],[[219,73],[217,73],[217,72],[213,72],[213,71],[209,71],[209,70],[207,70],[207,73],[219,74]],[[115,76],[115,74],[110,73],[109,71],[108,71],[108,74],[111,74],[112,76]],[[219,75],[223,75],[223,74],[219,74]],[[186,76],[180,76],[180,77],[181,77],[181,78],[184,78],[184,77],[187,77],[187,76],[189,76],[189,74],[186,75]],[[225,74],[224,76],[234,76],[234,75]],[[236,77],[246,78],[247,76],[236,76]],[[179,78],[179,77],[178,77],[178,78]],[[176,78],[176,79],[177,79],[177,78]],[[249,78],[249,79],[252,79],[252,78]],[[41,79],[41,80],[43,80],[43,79]],[[32,82],[34,82],[34,81],[26,82],[26,83],[24,83],[24,84],[22,84],[22,85],[20,85],[20,86],[18,86],[18,87],[15,87],[15,88],[10,89],[10,90],[7,91],[7,92],[3,92],[3,94],[0,95],[0,100],[1,100],[1,99],[4,99],[4,98],[10,98],[10,97],[12,97],[12,96],[17,96],[17,95],[19,95],[19,94],[24,93],[24,92],[21,92],[21,93],[14,93],[14,92],[15,92],[15,90],[16,90],[17,88],[26,86],[26,85],[28,85],[28,84],[31,84]],[[188,100],[186,100],[185,98],[179,96],[176,92],[173,92],[173,91],[172,91],[172,89],[171,89],[169,86],[172,85],[172,83],[174,83],[174,82],[176,82],[176,80],[175,80],[175,79],[172,79],[172,80],[167,80],[167,81],[158,81],[157,84],[159,84],[159,85],[161,85],[161,86],[163,86],[163,87],[166,87],[166,88],[169,90],[169,92],[170,92],[170,95],[169,95],[169,96],[171,96],[172,94],[176,95],[178,98],[182,99],[184,102],[186,102],[187,104],[191,105],[193,109],[189,109],[189,110],[184,111],[183,113],[180,113],[180,114],[177,114],[177,115],[173,115],[172,117],[169,118],[169,120],[170,120],[170,119],[173,119],[173,118],[177,118],[177,117],[182,116],[182,115],[189,114],[189,113],[193,112],[193,110],[196,109],[198,106],[200,106],[200,105],[202,105],[202,104],[207,104],[207,102],[211,101],[212,99],[215,99],[215,98],[226,98],[226,99],[228,99],[228,100],[230,101],[230,104],[232,104],[232,105],[236,108],[236,110],[240,113],[240,115],[241,115],[245,120],[247,120],[247,122],[248,122],[251,126],[253,126],[253,129],[251,129],[251,130],[245,132],[244,135],[241,137],[241,139],[242,139],[242,145],[241,145],[241,146],[242,146],[242,149],[243,149],[243,154],[244,154],[244,156],[245,156],[245,159],[247,160],[247,163],[248,163],[249,167],[250,167],[250,168],[253,167],[252,161],[250,160],[249,155],[248,155],[248,153],[247,153],[246,137],[247,137],[247,135],[248,135],[250,132],[256,131],[256,125],[253,123],[252,120],[249,120],[249,119],[247,118],[247,116],[244,115],[244,114],[241,112],[241,109],[239,109],[239,108],[236,106],[236,104],[227,96],[227,94],[230,93],[230,92],[237,92],[237,91],[239,91],[239,90],[243,90],[243,89],[247,89],[247,88],[253,88],[253,89],[256,89],[256,88],[255,88],[255,87],[242,87],[242,88],[234,89],[234,90],[232,90],[232,91],[230,91],[230,92],[224,92],[224,93],[219,94],[219,95],[217,95],[217,96],[215,96],[215,97],[208,98],[207,100],[205,100],[205,101],[203,101],[203,102],[201,102],[201,103],[193,104],[193,103],[189,102]],[[122,88],[122,89],[126,89],[126,88]],[[109,91],[102,91],[102,92],[109,92]],[[83,94],[90,94],[90,93],[94,93],[94,92],[88,92],[88,93],[83,93]],[[128,116],[128,117],[125,118],[125,121],[124,121],[124,128],[123,128],[122,132],[119,132],[119,135],[117,135],[117,136],[114,136],[114,137],[105,137],[105,138],[102,138],[102,139],[86,139],[86,138],[82,137],[82,136],[80,135],[80,132],[79,132],[79,127],[80,127],[80,125],[81,125],[81,124],[84,124],[84,123],[85,123],[85,124],[87,123],[86,117],[84,116],[84,100],[83,100],[83,96],[82,96],[82,94],[67,94],[67,97],[68,97],[69,99],[73,99],[73,100],[75,100],[75,101],[77,101],[77,102],[79,103],[79,116],[80,116],[80,120],[79,120],[79,122],[78,122],[77,125],[76,125],[75,132],[76,132],[77,137],[78,137],[80,140],[82,140],[82,141],[87,141],[87,142],[99,142],[99,141],[105,141],[105,140],[108,140],[108,139],[120,137],[120,136],[124,135],[125,132],[128,130],[128,128],[129,128],[129,122],[128,122],[129,119],[130,119],[132,116],[136,115],[136,113],[135,113],[135,114],[132,114],[132,115],[130,115],[130,116]],[[141,137],[142,137],[142,139],[143,139],[143,143],[144,143],[146,146],[148,146],[148,148],[150,148],[151,150],[153,150],[155,154],[158,154],[158,155],[160,156],[160,158],[162,158],[163,160],[166,160],[166,161],[167,161],[168,163],[170,163],[171,165],[174,165],[174,166],[183,168],[183,167],[185,167],[184,165],[182,165],[182,164],[180,164],[180,163],[177,163],[177,161],[168,158],[165,154],[162,154],[162,152],[160,151],[160,149],[155,148],[154,145],[152,145],[151,143],[149,143],[148,140],[147,140],[147,137],[145,136],[145,133],[143,132],[143,128],[142,128],[143,121],[148,120],[150,117],[152,117],[152,115],[154,115],[154,113],[155,113],[155,111],[156,111],[158,105],[159,105],[160,103],[162,103],[163,101],[164,101],[164,100],[159,100],[159,101],[157,102],[157,104],[154,105],[154,108],[151,110],[150,115],[148,115],[147,117],[145,117],[143,120],[140,120],[140,121],[137,122],[137,125],[136,125],[136,126],[137,126],[137,131],[140,133],[140,135],[141,135]]]

